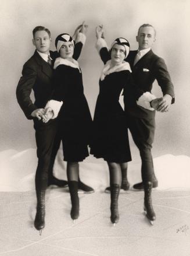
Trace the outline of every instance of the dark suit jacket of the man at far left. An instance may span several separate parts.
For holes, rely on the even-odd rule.
[[[83,44],[77,43],[74,47],[73,58],[78,59]],[[50,51],[52,62],[58,57],[58,52]],[[31,113],[37,108],[44,108],[52,94],[52,67],[41,58],[37,51],[23,66],[22,76],[16,89],[17,101],[28,119],[33,119]],[[30,98],[34,90],[35,101]]]

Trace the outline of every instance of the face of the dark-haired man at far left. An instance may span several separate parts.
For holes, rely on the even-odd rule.
[[[33,44],[35,45],[35,48],[38,51],[48,54],[51,44],[51,38],[49,37],[49,34],[46,31],[39,30],[35,32]]]

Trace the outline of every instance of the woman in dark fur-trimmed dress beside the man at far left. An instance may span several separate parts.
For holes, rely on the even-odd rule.
[[[75,220],[79,216],[78,162],[89,155],[87,145],[90,141],[92,118],[84,96],[81,69],[73,59],[73,38],[69,34],[60,34],[55,40],[55,45],[60,57],[54,64],[55,91],[46,108],[48,111],[52,110],[52,118],[59,118],[72,204],[70,214]]]

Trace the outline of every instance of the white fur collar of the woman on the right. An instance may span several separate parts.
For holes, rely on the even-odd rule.
[[[128,70],[132,72],[130,68],[130,64],[126,61],[123,61],[120,65],[113,66],[112,68],[110,68],[110,64],[111,64],[111,61],[109,60],[106,62],[106,65],[103,67],[102,73],[101,73],[101,81],[105,79],[106,75],[109,75],[110,73],[113,73],[113,72],[120,72],[123,70]]]

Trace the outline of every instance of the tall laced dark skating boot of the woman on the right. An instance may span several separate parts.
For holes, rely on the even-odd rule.
[[[115,223],[119,222],[118,198],[119,198],[120,186],[119,184],[112,184],[110,188],[111,188],[110,219],[114,225]]]

